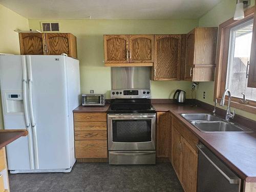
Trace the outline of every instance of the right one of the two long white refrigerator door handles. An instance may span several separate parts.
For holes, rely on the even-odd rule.
[[[30,117],[32,123],[32,135],[33,135],[33,146],[34,146],[34,162],[35,168],[39,168],[38,163],[38,149],[37,149],[37,136],[36,136],[36,124],[34,119],[34,111],[33,111],[33,102],[32,102],[32,70],[31,70],[31,56],[26,55],[27,58],[27,69],[28,69],[28,85],[29,85],[29,108],[30,108]]]

